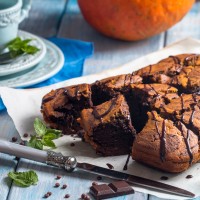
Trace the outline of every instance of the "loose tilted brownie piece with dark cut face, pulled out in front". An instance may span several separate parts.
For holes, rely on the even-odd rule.
[[[115,156],[131,152],[135,130],[123,95],[83,109],[78,121],[85,130],[85,141],[92,145],[97,154]]]

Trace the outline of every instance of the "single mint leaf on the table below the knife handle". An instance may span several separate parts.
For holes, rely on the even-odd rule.
[[[14,183],[20,187],[29,187],[38,182],[37,174],[30,170],[27,172],[9,172],[8,177],[13,179]]]

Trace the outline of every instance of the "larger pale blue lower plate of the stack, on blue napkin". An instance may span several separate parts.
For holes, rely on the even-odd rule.
[[[23,31],[23,33],[25,33]],[[42,39],[46,45],[46,54],[40,63],[24,71],[0,77],[0,86],[6,87],[27,87],[44,81],[58,71],[64,64],[62,51],[52,42]]]

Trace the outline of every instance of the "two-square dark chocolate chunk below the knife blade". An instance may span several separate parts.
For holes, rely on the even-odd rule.
[[[125,181],[115,181],[110,184],[93,185],[90,187],[90,193],[95,199],[106,199],[121,195],[133,194],[133,188]]]

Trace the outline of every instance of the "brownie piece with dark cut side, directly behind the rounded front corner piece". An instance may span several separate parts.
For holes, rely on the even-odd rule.
[[[132,124],[140,132],[147,122],[147,112],[178,98],[177,89],[167,84],[131,84],[131,93],[126,96]]]

